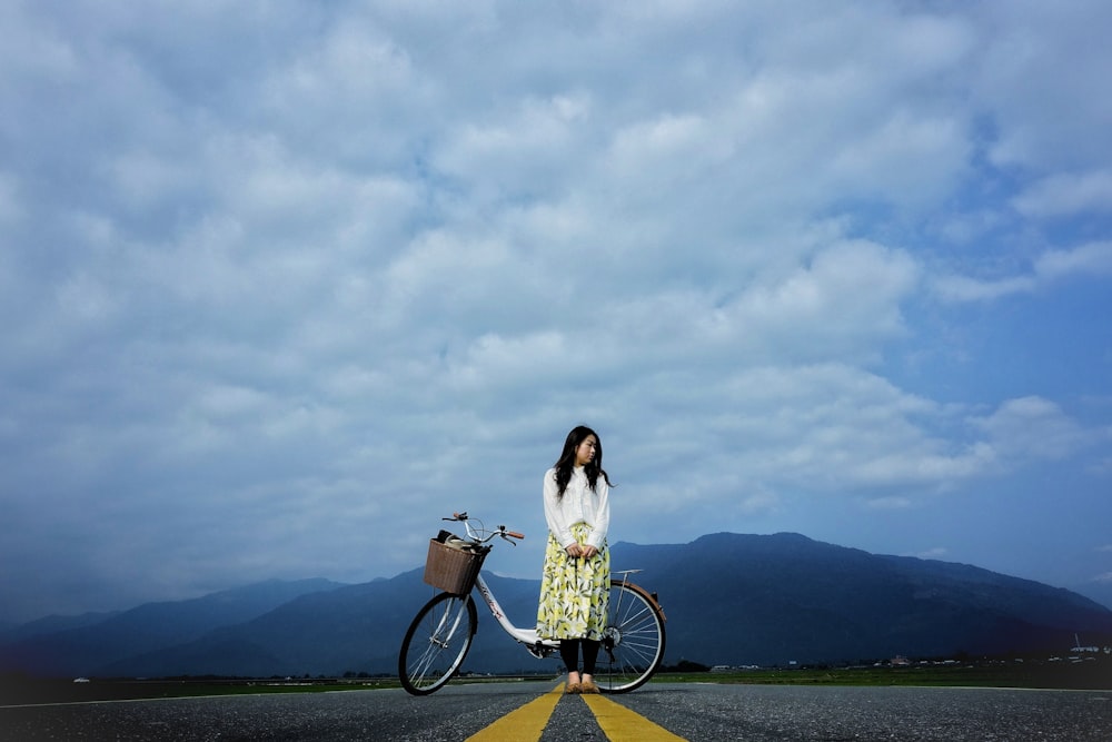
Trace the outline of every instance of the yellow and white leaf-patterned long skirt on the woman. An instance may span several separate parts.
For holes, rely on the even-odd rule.
[[[583,544],[590,527],[576,523],[572,533]],[[589,560],[573,558],[549,533],[540,576],[537,636],[602,640],[609,598],[610,550],[606,544]]]

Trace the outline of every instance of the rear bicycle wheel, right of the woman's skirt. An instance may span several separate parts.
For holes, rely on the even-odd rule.
[[[664,613],[648,593],[610,581],[610,605],[603,632],[595,683],[603,693],[627,693],[653,676],[664,660]]]

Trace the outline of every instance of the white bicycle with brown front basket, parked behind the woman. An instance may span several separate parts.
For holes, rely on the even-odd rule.
[[[460,538],[441,531],[429,542],[425,582],[444,592],[435,595],[417,612],[398,654],[398,677],[413,695],[428,695],[444,687],[464,663],[478,627],[473,588],[477,588],[490,613],[512,639],[525,645],[534,657],[544,660],[559,651],[559,640],[540,639],[536,629],[510,623],[479,572],[483,560],[494,546],[487,542],[500,536],[525,536],[499,525],[486,531],[480,521],[471,525],[467,513],[450,518],[464,524],[467,536]],[[664,660],[664,610],[655,593],[629,582],[641,570],[612,573],[609,613],[599,647],[595,683],[604,693],[627,693],[653,676]],[[620,575],[614,577],[613,575]]]

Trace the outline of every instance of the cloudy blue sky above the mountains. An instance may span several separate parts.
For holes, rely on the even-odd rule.
[[[610,543],[795,532],[1112,605],[1109,28],[3,2],[0,621],[391,577],[454,511],[537,578],[579,424]]]

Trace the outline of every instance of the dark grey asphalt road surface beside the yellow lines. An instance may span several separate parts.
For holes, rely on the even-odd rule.
[[[0,708],[2,740],[445,740],[459,742],[555,686],[400,690]],[[1112,691],[649,684],[608,696],[692,742],[723,740],[1112,741]],[[582,699],[542,742],[606,740]]]

